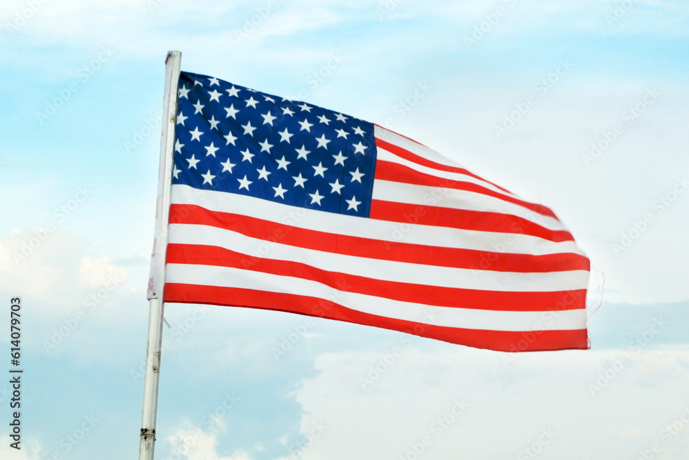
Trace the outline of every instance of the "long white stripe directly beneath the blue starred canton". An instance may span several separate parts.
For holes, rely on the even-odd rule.
[[[196,204],[208,210],[244,214],[257,219],[283,223],[297,228],[317,230],[351,237],[378,239],[445,248],[506,252],[509,254],[584,254],[574,241],[555,243],[526,234],[480,232],[410,223],[388,222],[345,216],[322,211],[285,206],[273,201],[241,194],[199,190],[181,184],[172,185],[172,203]]]

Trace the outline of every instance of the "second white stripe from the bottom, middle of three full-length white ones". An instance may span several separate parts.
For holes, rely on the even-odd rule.
[[[370,279],[400,283],[507,292],[553,292],[586,289],[588,271],[569,272],[492,272],[469,268],[450,268],[367,259],[313,249],[298,248],[247,237],[244,234],[210,226],[172,224],[169,242],[205,244],[241,252],[250,257],[305,263],[328,272],[352,274]]]

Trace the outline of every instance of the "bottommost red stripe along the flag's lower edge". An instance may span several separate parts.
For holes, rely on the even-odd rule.
[[[351,310],[338,303],[318,297],[282,294],[280,292],[166,283],[164,298],[166,302],[207,303],[305,314],[505,352],[561,350],[563,348],[585,350],[588,348],[586,329],[505,332],[449,328],[380,317],[375,314]]]

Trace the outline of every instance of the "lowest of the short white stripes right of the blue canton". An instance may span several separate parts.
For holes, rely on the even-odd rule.
[[[538,214],[515,203],[454,188],[415,186],[376,179],[373,183],[373,199],[470,211],[500,212],[533,221],[548,230],[567,230],[557,219]]]

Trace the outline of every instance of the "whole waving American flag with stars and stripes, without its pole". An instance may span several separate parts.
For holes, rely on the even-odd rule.
[[[555,214],[373,123],[182,72],[171,203],[166,302],[588,348],[589,261]]]

